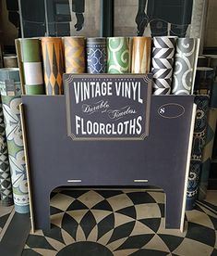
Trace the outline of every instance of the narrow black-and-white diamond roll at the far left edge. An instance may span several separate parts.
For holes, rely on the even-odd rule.
[[[10,166],[7,153],[5,129],[6,127],[4,123],[2,102],[0,102],[0,196],[3,206],[11,206],[14,204],[14,200],[10,177]]]

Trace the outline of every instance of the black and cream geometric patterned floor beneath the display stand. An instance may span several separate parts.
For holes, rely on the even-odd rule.
[[[164,229],[161,190],[56,191],[50,232],[30,233],[21,255],[217,255],[217,191],[186,220],[184,233]]]

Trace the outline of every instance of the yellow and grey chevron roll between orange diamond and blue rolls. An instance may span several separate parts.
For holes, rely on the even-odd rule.
[[[84,73],[85,38],[83,36],[64,37],[66,73]]]

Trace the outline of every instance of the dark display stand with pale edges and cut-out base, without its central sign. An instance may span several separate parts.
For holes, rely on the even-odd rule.
[[[183,109],[178,115],[176,107]],[[150,131],[140,141],[72,140],[66,133],[65,96],[23,96],[20,109],[32,229],[50,228],[55,187],[159,186],[166,194],[166,227],[183,231],[194,96],[151,96]]]

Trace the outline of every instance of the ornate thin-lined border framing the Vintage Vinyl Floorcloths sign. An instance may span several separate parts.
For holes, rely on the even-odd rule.
[[[66,77],[66,78],[65,78]],[[145,133],[141,134],[139,137],[78,137],[76,134],[72,133],[71,127],[71,100],[69,93],[70,83],[73,82],[74,78],[80,79],[107,79],[108,77],[112,79],[137,79],[141,78],[147,83],[147,98],[146,98],[146,111],[145,111]],[[65,85],[65,97],[66,97],[66,129],[67,136],[71,137],[72,140],[77,141],[92,141],[92,140],[144,140],[149,135],[150,129],[150,113],[151,113],[151,93],[152,93],[152,74],[64,74],[64,85]]]

